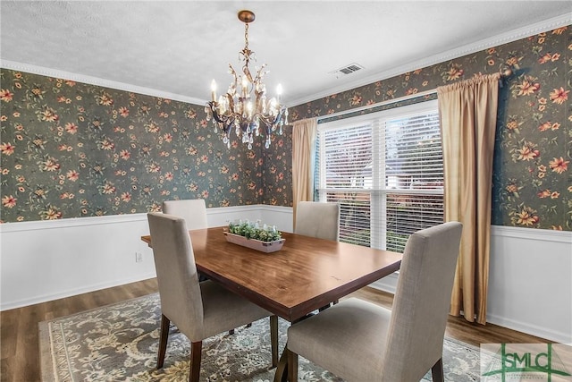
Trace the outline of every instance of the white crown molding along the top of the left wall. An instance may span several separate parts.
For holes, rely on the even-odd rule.
[[[133,93],[144,94],[146,96],[172,99],[173,101],[181,101],[194,105],[205,105],[206,100],[199,98],[192,98],[182,96],[181,94],[174,94],[168,91],[149,89],[137,85],[130,85],[129,83],[124,83],[120,81],[110,81],[98,77],[92,77],[84,74],[78,74],[73,72],[65,72],[57,69],[46,68],[44,66],[22,64],[10,60],[0,60],[0,67],[4,69],[10,69],[13,71],[29,72],[32,74],[39,74],[46,77],[60,78],[65,80],[71,80],[76,82],[83,82],[89,85],[101,86],[103,88],[117,89],[123,91],[130,91]]]

